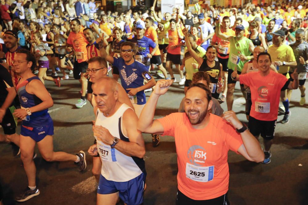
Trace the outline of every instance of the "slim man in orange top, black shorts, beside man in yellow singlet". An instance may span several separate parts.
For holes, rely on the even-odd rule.
[[[171,76],[171,79],[173,79],[175,82],[176,79],[172,72],[171,62],[175,65],[176,69],[178,70],[181,76],[179,85],[184,85],[185,83],[183,71],[180,70],[181,47],[182,47],[181,40],[183,38],[184,34],[180,26],[177,26],[175,19],[172,18],[170,20],[170,29],[168,30],[169,45],[166,48],[167,50],[166,67]]]

